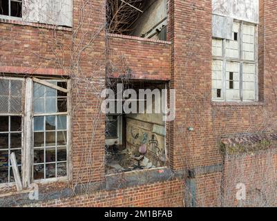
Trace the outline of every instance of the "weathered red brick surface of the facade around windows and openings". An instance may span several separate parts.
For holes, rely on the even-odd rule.
[[[118,64],[123,59],[124,70],[131,71],[131,78],[170,80],[169,86],[176,89],[176,119],[169,123],[166,133],[171,169],[222,163],[218,151],[222,135],[276,130],[276,1],[260,0],[259,102],[247,104],[211,102],[211,0],[169,0],[171,44],[107,36],[104,0],[90,1],[91,5],[80,10],[82,2],[74,1],[73,29],[0,21],[1,73],[65,75],[72,81],[72,179],[65,184],[41,184],[41,188],[105,181],[105,126],[104,115],[99,112],[99,91],[104,88],[106,67],[111,68],[106,55],[114,64],[114,77],[126,73]],[[188,131],[188,127],[194,131]],[[238,163],[251,165],[252,160],[246,155]],[[276,160],[272,162],[276,164]],[[260,164],[261,169],[265,165]],[[227,177],[231,164],[227,162],[224,168]],[[250,172],[245,174],[249,176]],[[197,205],[220,205],[222,173],[196,175],[195,180]],[[232,186],[233,180],[228,185]],[[172,180],[35,205],[183,206],[186,194],[184,180]]]

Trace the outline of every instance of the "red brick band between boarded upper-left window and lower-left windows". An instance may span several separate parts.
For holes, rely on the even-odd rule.
[[[27,68],[65,68],[70,66],[70,28],[56,30],[26,26],[1,19],[0,64]]]

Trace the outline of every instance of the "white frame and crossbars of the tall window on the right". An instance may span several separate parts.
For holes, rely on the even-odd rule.
[[[238,21],[234,20],[233,23],[239,23],[239,33],[238,33],[238,46],[239,46],[239,57],[230,58],[226,56],[226,42],[227,39],[222,40],[222,56],[212,56],[213,61],[222,61],[222,88],[221,88],[221,97],[212,97],[212,101],[214,102],[258,102],[258,24],[257,23],[249,23],[246,21]],[[254,26],[255,34],[254,34],[254,60],[243,59],[243,48],[242,48],[242,35],[243,35],[243,26]],[[218,38],[213,38],[218,39]],[[226,99],[226,64],[228,62],[236,62],[239,63],[239,90],[240,90],[240,100],[229,100]],[[255,66],[255,99],[247,100],[243,99],[243,64],[252,64]]]

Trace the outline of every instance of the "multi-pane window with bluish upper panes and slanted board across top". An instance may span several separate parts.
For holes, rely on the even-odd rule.
[[[67,88],[64,81],[46,81]],[[34,180],[66,176],[67,94],[37,82],[33,85]]]

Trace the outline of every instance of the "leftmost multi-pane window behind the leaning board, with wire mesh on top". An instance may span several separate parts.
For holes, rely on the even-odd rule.
[[[13,152],[21,171],[22,90],[22,80],[0,79],[0,184],[15,182],[10,164]]]

